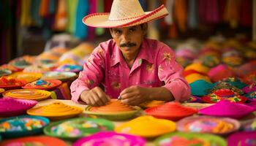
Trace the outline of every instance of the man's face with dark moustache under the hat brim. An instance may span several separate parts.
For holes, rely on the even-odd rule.
[[[110,34],[123,55],[137,55],[146,34],[147,24],[124,28],[110,28]]]

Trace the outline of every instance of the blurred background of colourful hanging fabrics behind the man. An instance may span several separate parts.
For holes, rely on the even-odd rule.
[[[81,42],[93,47],[110,39],[108,29],[82,23],[85,15],[110,12],[113,0],[1,0],[0,64],[53,47],[72,49]],[[187,40],[246,45],[253,39],[252,0],[140,0],[145,11],[165,4],[170,15],[149,23],[148,37],[176,49]],[[256,8],[256,7],[254,7]],[[247,46],[247,45],[246,45]],[[199,50],[200,48],[197,48]]]

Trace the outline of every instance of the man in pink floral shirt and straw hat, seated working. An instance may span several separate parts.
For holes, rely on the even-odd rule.
[[[72,82],[72,100],[92,106],[105,105],[110,98],[118,97],[130,105],[187,100],[189,85],[173,50],[144,38],[147,22],[167,14],[163,5],[144,12],[138,0],[114,0],[110,13],[83,18],[88,26],[110,28],[113,39],[100,43],[91,53],[78,79]],[[105,91],[99,88],[101,84]]]

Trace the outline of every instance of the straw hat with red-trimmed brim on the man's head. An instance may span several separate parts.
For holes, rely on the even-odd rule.
[[[164,5],[154,11],[144,12],[138,0],[114,0],[110,13],[86,15],[83,23],[99,28],[136,26],[168,15]]]

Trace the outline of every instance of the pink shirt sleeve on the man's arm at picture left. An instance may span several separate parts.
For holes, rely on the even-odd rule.
[[[79,73],[78,79],[70,86],[72,101],[78,102],[80,94],[85,90],[90,90],[102,82],[105,66],[105,52],[100,45],[91,53],[83,71]]]

